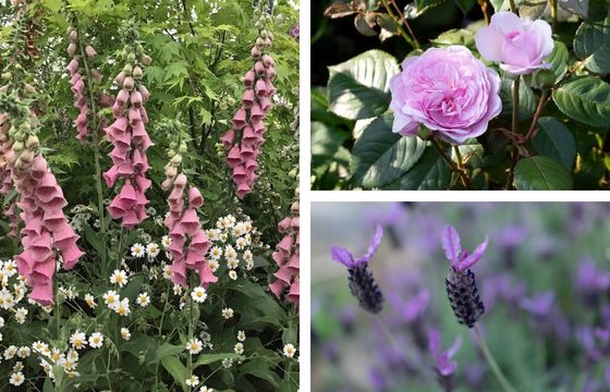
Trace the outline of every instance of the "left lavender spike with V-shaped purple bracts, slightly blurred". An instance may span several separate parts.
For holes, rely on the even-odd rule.
[[[366,255],[354,259],[354,256],[350,250],[341,246],[332,246],[330,249],[330,257],[337,261],[347,267],[347,272],[350,273],[350,291],[352,295],[358,299],[359,305],[367,311],[373,314],[378,314],[383,307],[383,294],[379,291],[373,273],[368,270],[368,261],[373,258],[379,244],[381,243],[381,237],[383,235],[383,230],[380,225],[377,226],[375,235],[370,240],[370,245],[368,246],[368,252]]]

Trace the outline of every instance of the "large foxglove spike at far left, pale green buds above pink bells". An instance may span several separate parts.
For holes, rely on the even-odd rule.
[[[20,15],[17,23],[25,23],[25,4],[15,7]],[[17,269],[33,287],[29,297],[47,306],[53,302],[52,279],[57,256],[60,256],[65,269],[71,269],[83,252],[76,245],[78,236],[63,213],[63,208],[68,205],[63,192],[39,151],[38,120],[29,108],[29,100],[24,96],[35,89],[24,82],[27,75],[22,60],[27,50],[23,48],[29,46],[21,36],[22,32],[19,25],[13,30],[15,56],[2,74],[8,84],[0,89],[0,113],[3,113],[3,121],[10,124],[10,127],[2,125],[3,131],[9,127],[8,135],[3,132],[2,136],[2,161],[8,166],[4,173],[10,172],[19,194],[16,206],[21,209],[20,217],[25,223],[21,231],[23,252],[15,257]],[[5,148],[9,145],[11,148]],[[5,177],[3,186],[4,184]]]

